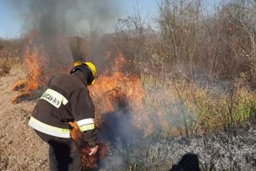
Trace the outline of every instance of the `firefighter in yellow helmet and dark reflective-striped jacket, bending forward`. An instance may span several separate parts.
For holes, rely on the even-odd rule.
[[[71,139],[69,122],[77,122],[84,141],[98,150],[94,125],[94,105],[87,86],[95,83],[96,66],[91,62],[75,62],[71,74],[51,78],[48,89],[39,99],[28,125],[49,144],[51,170],[82,170],[81,156]]]

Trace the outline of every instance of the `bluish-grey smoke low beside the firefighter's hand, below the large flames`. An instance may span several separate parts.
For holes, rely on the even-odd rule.
[[[102,116],[104,128],[99,130],[98,138],[108,142],[109,154],[102,160],[100,167],[104,169],[123,168],[127,159],[126,149],[137,148],[141,145],[142,132],[134,126],[134,114],[127,109],[119,109]]]

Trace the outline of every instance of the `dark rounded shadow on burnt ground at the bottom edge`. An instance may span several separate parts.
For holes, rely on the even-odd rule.
[[[170,171],[200,171],[197,155],[188,153],[184,155],[177,165],[173,165]]]

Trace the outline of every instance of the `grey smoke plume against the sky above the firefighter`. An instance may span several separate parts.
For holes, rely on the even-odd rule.
[[[24,32],[40,31],[44,37],[73,35],[82,29],[112,30],[117,12],[114,0],[11,0]]]

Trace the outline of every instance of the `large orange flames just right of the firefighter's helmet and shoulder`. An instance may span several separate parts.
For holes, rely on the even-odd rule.
[[[125,64],[125,57],[122,53],[118,53],[112,68],[113,74],[106,70],[90,89],[94,104],[98,106],[96,118],[101,122],[102,114],[114,112],[119,107],[126,106],[134,114],[134,126],[143,129],[146,134],[151,134],[152,124],[148,120],[147,112],[143,109],[144,90],[141,80],[135,74],[122,73],[120,70]]]

